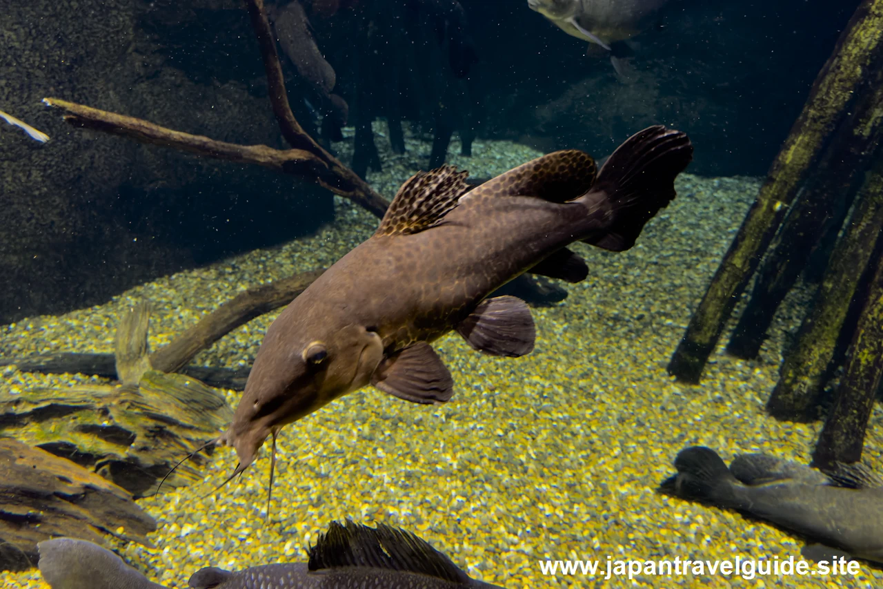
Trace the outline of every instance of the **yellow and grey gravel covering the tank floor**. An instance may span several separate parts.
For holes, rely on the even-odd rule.
[[[369,180],[385,195],[426,167],[429,146],[419,138],[409,139],[406,156],[389,154],[382,139],[380,147],[387,170]],[[491,176],[538,155],[508,142],[476,142],[472,158],[453,157],[452,163],[474,176]],[[286,427],[268,523],[266,452],[238,484],[203,498],[236,464],[231,450],[219,452],[200,485],[140,501],[159,525],[152,535],[156,547],[130,544],[122,554],[152,580],[185,587],[203,566],[302,560],[329,520],[350,517],[415,532],[472,577],[506,587],[734,582],[692,575],[549,578],[540,572],[542,559],[598,559],[604,567],[608,556],[800,558],[802,539],[655,493],[683,447],[710,446],[727,461],[736,453],[762,451],[808,462],[820,427],[779,423],[764,410],[781,348],[799,325],[800,292],[783,306],[758,361],[737,360],[719,349],[700,386],[668,377],[665,364],[759,184],[683,174],[677,187],[675,202],[630,251],[573,246],[589,262],[590,276],[568,287],[566,301],[533,310],[538,341],[531,355],[482,356],[448,336],[436,348],[455,380],[457,393],[449,403],[427,408],[366,389]],[[338,222],[313,237],[157,279],[91,309],[0,326],[0,356],[109,352],[118,313],[142,299],[154,309],[151,348],[162,346],[245,287],[332,264],[374,231],[375,218],[339,199],[336,205]],[[228,334],[197,362],[251,363],[275,315]],[[90,378],[8,369],[0,394],[84,380]],[[235,404],[238,394],[229,398]],[[865,455],[879,469],[879,406],[872,419]],[[36,572],[0,573],[0,583],[48,586]],[[883,574],[863,563],[857,578],[769,576],[740,586],[881,583]]]

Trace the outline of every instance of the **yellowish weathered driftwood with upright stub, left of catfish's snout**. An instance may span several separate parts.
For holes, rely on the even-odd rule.
[[[151,369],[147,320],[147,306],[139,305],[120,323],[120,385],[0,395],[0,436],[68,458],[136,497],[150,492],[174,463],[228,425],[233,411],[200,381]],[[168,483],[197,480],[205,462],[194,457]]]

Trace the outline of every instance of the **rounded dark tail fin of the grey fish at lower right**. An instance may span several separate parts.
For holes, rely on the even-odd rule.
[[[660,486],[662,493],[682,499],[718,502],[726,488],[738,483],[721,456],[704,446],[681,450],[675,458],[677,474]]]

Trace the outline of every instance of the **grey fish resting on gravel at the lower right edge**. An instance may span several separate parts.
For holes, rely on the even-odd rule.
[[[660,492],[736,509],[819,541],[804,549],[819,560],[834,549],[883,562],[883,480],[861,464],[834,470],[765,454],[737,455],[729,468],[708,447],[688,447],[675,458],[677,474]]]

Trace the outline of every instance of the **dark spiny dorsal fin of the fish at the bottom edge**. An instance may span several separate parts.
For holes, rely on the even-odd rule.
[[[341,567],[406,570],[441,578],[452,583],[468,582],[469,577],[456,564],[411,532],[389,525],[377,528],[331,522],[328,532],[319,535],[309,550],[308,570]]]

